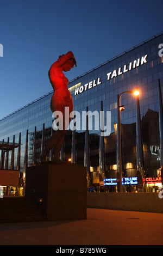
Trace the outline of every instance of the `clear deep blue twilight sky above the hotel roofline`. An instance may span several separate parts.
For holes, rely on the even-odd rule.
[[[0,0],[0,119],[52,91],[60,54],[76,57],[71,81],[163,31],[162,10],[162,0]]]

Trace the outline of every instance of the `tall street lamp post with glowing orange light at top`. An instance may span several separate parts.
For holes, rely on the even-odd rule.
[[[117,95],[117,171],[119,173],[119,192],[122,191],[122,138],[121,138],[121,111],[124,110],[124,106],[121,106],[121,96],[124,93],[131,93],[134,95],[139,95],[139,91],[136,90],[123,92],[120,95]]]

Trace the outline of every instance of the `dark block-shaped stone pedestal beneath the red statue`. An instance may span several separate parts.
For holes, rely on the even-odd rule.
[[[75,163],[45,162],[28,167],[26,197],[47,221],[86,218],[86,168]]]

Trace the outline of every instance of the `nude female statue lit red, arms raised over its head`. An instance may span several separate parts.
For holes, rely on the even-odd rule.
[[[59,154],[64,143],[66,134],[65,129],[65,107],[69,107],[68,124],[70,124],[70,113],[73,111],[73,100],[71,93],[68,90],[68,79],[65,77],[62,71],[70,71],[73,66],[76,65],[76,59],[73,53],[67,52],[66,54],[59,56],[57,62],[54,62],[49,69],[48,75],[54,89],[54,94],[51,99],[52,112],[60,111],[63,115],[63,129],[58,129],[52,137],[49,139],[45,150],[41,155],[41,162],[47,161],[47,154],[54,148],[54,161],[59,161]]]

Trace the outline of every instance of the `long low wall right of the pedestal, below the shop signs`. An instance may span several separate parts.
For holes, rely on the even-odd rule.
[[[158,193],[87,193],[87,208],[163,213]]]

